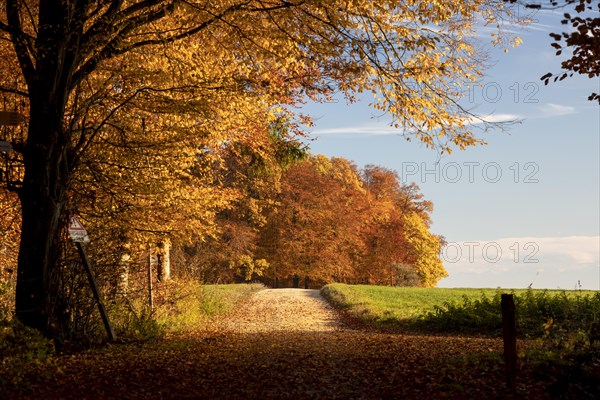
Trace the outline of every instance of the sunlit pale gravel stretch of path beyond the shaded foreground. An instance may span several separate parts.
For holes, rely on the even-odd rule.
[[[265,289],[220,322],[239,333],[332,332],[343,330],[335,310],[314,289]]]

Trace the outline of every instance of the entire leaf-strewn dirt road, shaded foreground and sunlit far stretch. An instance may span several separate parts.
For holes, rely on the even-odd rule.
[[[494,339],[347,330],[317,291],[264,290],[210,330],[30,366],[0,397],[493,399],[505,394],[500,349]],[[481,353],[490,361],[469,361]]]

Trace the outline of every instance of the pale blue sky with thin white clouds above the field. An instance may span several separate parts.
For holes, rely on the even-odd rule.
[[[492,50],[483,87],[467,88],[480,115],[522,120],[486,134],[487,146],[439,159],[374,117],[368,101],[303,110],[316,122],[313,153],[396,170],[433,201],[431,230],[449,242],[439,287],[600,290],[600,107],[587,100],[600,79],[545,86],[540,76],[560,66],[548,33],[565,26],[560,11],[531,17],[511,27],[523,44]]]

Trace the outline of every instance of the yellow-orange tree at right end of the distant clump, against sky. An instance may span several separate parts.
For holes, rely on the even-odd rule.
[[[370,209],[360,276],[370,283],[435,286],[447,273],[439,237],[429,232],[433,204],[387,168],[368,165],[362,179]]]

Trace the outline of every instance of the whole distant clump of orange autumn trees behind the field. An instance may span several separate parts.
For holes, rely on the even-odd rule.
[[[432,203],[396,172],[310,154],[275,173],[249,165],[235,180],[243,195],[217,215],[219,235],[182,248],[193,274],[427,287],[446,276]]]

